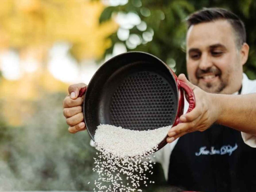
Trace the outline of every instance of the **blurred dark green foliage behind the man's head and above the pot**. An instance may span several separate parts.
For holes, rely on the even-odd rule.
[[[170,65],[176,74],[186,73],[185,37],[186,18],[189,14],[203,7],[222,7],[237,14],[244,22],[247,29],[247,43],[250,46],[249,59],[244,65],[244,72],[250,79],[256,79],[256,1],[254,0],[130,0],[126,5],[106,7],[100,17],[100,22],[111,18],[115,12],[135,12],[142,21],[147,24],[147,30],[153,29],[153,40],[147,44],[138,45],[128,51],[144,51],[153,54]],[[143,11],[149,10],[150,15],[145,16]],[[163,19],[164,18],[164,19]],[[142,36],[142,32],[134,26],[130,34]],[[111,54],[116,42],[124,42],[118,39],[117,33],[110,36],[113,44],[105,54]],[[173,63],[176,63],[174,67]]]

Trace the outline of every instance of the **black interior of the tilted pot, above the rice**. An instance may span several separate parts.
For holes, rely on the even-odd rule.
[[[156,57],[129,53],[104,63],[88,85],[83,110],[93,140],[100,124],[132,130],[173,124],[178,105],[173,76]]]

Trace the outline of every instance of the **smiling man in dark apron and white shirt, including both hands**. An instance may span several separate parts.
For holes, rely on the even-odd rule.
[[[170,144],[156,152],[156,160],[170,185],[197,191],[256,191],[256,94],[249,94],[256,92],[256,81],[242,71],[249,52],[244,24],[219,8],[196,12],[187,22],[190,82],[184,74],[179,79],[193,89],[196,107],[169,130]],[[85,129],[82,98],[77,98],[84,86],[70,86],[63,102],[71,133]]]

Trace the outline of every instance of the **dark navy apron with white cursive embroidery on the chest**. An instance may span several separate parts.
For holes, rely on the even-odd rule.
[[[218,124],[188,133],[170,155],[168,183],[193,191],[255,192],[256,148],[240,131]]]

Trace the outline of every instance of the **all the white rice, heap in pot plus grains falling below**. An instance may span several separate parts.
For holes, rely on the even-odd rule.
[[[142,191],[147,186],[146,173],[153,174],[151,155],[165,138],[171,126],[137,131],[113,125],[99,125],[94,140],[98,158],[94,158],[94,172],[99,175],[94,184],[99,192]],[[127,184],[123,182],[126,178]],[[129,184],[130,183],[130,184]],[[151,181],[150,183],[155,183]]]

